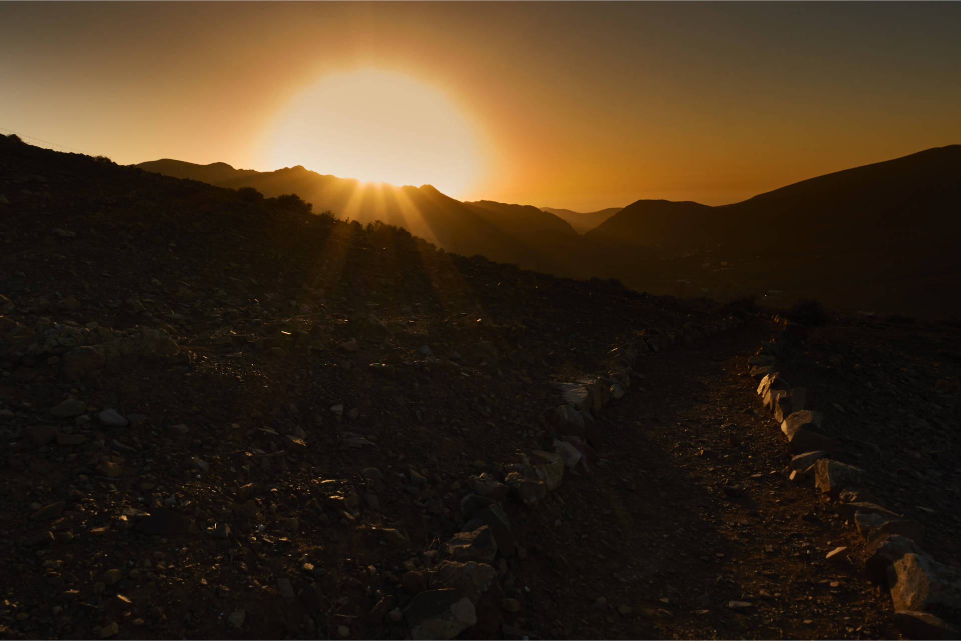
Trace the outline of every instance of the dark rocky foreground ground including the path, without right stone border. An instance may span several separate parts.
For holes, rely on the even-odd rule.
[[[899,635],[789,480],[746,309],[10,138],[0,294],[4,636]],[[784,366],[945,563],[956,338],[834,324]]]

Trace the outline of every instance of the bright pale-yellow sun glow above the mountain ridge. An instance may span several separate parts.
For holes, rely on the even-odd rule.
[[[266,143],[272,168],[431,184],[455,197],[478,179],[479,153],[471,125],[443,92],[379,69],[324,76],[283,110]]]

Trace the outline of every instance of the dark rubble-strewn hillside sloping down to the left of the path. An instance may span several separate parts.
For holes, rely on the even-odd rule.
[[[555,382],[727,317],[12,138],[0,177],[16,637],[402,638]]]

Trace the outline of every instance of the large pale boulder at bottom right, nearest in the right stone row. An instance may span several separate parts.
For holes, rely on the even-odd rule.
[[[888,569],[895,610],[930,612],[961,622],[961,570],[922,555],[903,555]]]

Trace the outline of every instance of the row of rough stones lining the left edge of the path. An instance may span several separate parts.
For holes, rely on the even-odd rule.
[[[633,370],[638,357],[693,345],[745,322],[731,316],[707,326],[688,323],[681,332],[645,330],[611,350],[613,364],[603,375],[554,382],[563,404],[543,417],[555,435],[554,451],[534,450],[520,463],[501,465],[501,475],[485,472],[464,480],[462,485],[468,491],[460,502],[463,528],[442,544],[438,553],[425,554],[435,559],[431,570],[407,573],[404,585],[417,592],[416,597],[403,612],[391,612],[392,617],[399,620],[403,616],[413,639],[450,639],[464,630],[473,631],[474,636],[503,633],[520,637],[521,630],[503,624],[502,612],[522,607],[522,600],[505,598],[505,592],[517,587],[507,572],[506,558],[523,560],[527,551],[511,531],[503,502],[510,497],[534,507],[560,487],[565,474],[590,472],[590,463],[597,457],[592,444],[599,445],[604,432],[604,425],[596,419],[604,406],[628,393],[631,377],[640,378]],[[385,609],[381,604],[378,607]]]

